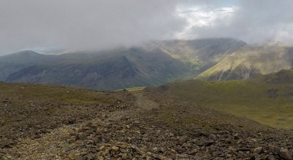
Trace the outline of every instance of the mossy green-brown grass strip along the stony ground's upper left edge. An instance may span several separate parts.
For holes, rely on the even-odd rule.
[[[109,104],[115,100],[102,92],[88,89],[27,83],[0,82],[0,95],[5,95],[12,104],[16,105],[24,105],[28,100],[71,104]]]

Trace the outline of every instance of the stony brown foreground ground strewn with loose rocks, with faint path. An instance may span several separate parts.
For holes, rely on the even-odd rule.
[[[291,131],[163,94],[0,83],[0,100],[2,160],[293,158]]]

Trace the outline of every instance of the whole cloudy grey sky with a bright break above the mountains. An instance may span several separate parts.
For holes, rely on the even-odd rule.
[[[0,55],[210,37],[293,43],[292,10],[291,0],[0,0]]]

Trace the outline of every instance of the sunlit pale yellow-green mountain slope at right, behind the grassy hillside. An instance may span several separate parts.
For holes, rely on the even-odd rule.
[[[246,46],[196,76],[207,81],[246,79],[291,68],[293,47],[279,43]]]

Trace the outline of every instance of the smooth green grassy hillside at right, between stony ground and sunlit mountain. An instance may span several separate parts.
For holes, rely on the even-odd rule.
[[[237,81],[175,81],[144,90],[176,95],[275,128],[293,128],[293,69]]]

